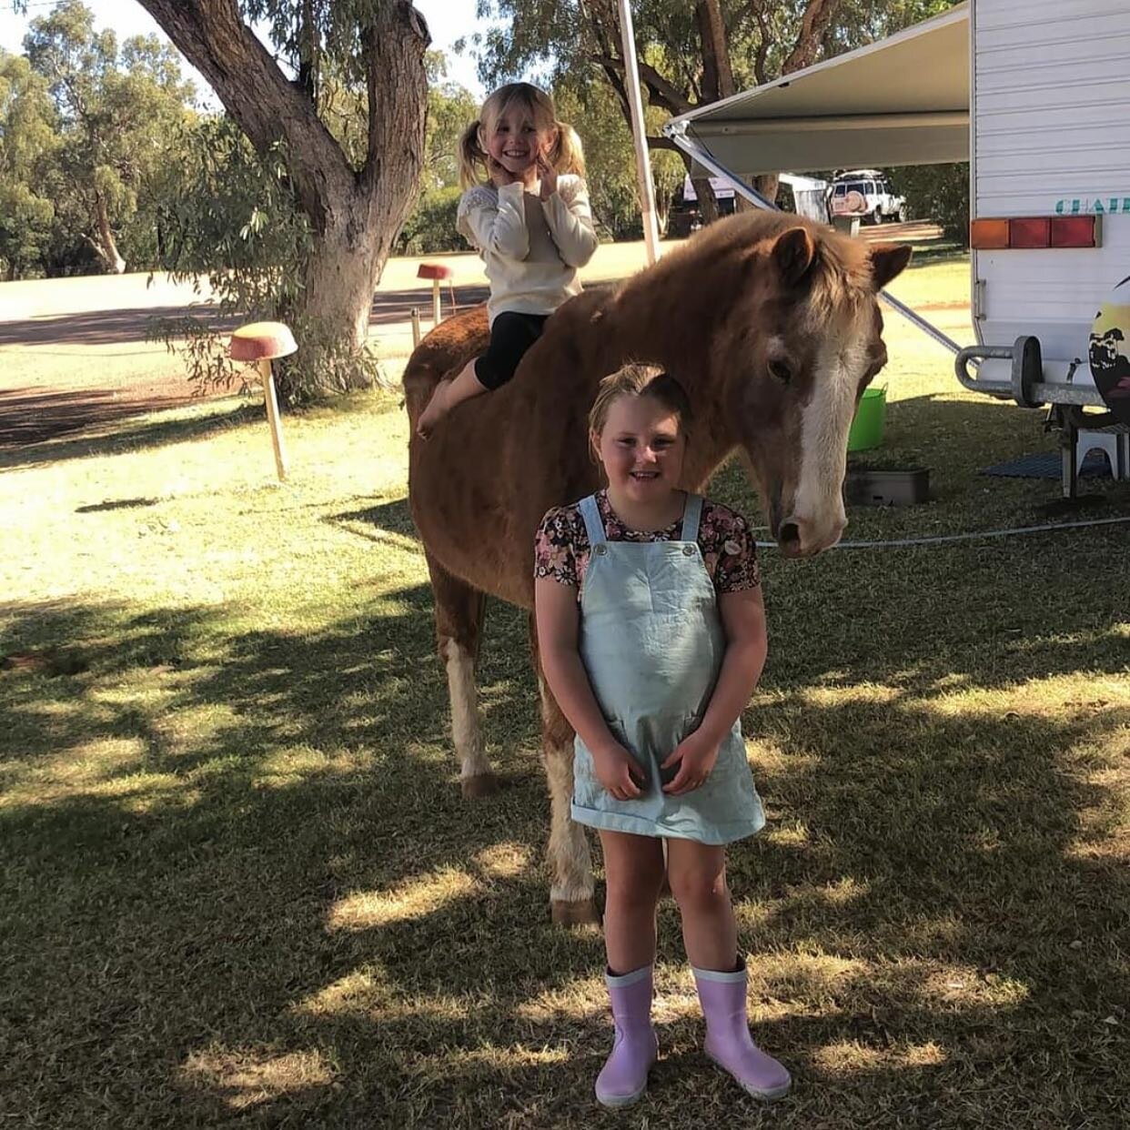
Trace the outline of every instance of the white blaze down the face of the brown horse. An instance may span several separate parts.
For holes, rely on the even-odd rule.
[[[792,513],[806,551],[827,549],[846,525],[843,479],[855,390],[867,365],[867,321],[859,318],[828,338],[816,363],[816,388],[800,424],[800,476]]]

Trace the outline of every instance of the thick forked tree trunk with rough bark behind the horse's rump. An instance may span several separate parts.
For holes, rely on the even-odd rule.
[[[139,0],[208,80],[262,156],[279,146],[313,250],[298,328],[320,348],[359,350],[373,290],[424,162],[427,25],[408,0],[374,2],[359,33],[368,102],[365,163],[355,168],[318,116],[313,81],[292,81],[243,21],[235,0]],[[312,330],[310,328],[316,328]],[[299,349],[303,341],[299,338]],[[359,372],[359,371],[358,371]],[[284,395],[297,389],[286,386]]]

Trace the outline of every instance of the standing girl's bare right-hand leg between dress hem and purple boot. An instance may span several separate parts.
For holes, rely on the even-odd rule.
[[[690,964],[699,970],[737,968],[738,929],[725,881],[725,849],[668,840],[667,875]]]

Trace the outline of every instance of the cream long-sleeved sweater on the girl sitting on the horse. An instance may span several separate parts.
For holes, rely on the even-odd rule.
[[[479,184],[460,197],[457,226],[478,249],[490,280],[487,313],[551,314],[581,293],[576,277],[597,250],[589,192],[560,176],[542,201],[521,184]]]

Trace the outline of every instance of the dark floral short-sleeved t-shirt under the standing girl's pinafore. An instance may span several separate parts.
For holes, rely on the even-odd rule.
[[[616,516],[608,502],[607,490],[597,493],[597,508],[605,523],[605,537],[609,541],[678,541],[683,533],[681,518],[664,530],[629,530]],[[710,499],[703,501],[702,518],[698,521],[698,548],[719,596],[755,589],[760,584],[753,531],[749,523],[729,506]],[[551,577],[559,584],[573,585],[580,600],[589,556],[589,531],[584,528],[581,504],[572,503],[549,511],[541,520],[534,541],[534,577]]]

